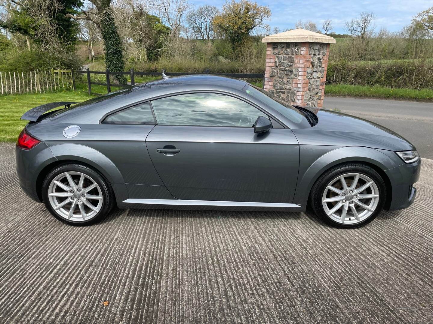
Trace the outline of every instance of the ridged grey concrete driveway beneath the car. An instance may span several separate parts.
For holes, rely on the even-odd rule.
[[[0,162],[0,323],[433,322],[433,160],[413,206],[355,230],[185,210],[73,227],[19,189],[13,144]]]

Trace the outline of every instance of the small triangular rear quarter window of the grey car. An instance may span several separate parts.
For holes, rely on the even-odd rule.
[[[152,107],[149,102],[144,102],[107,116],[103,124],[139,124],[139,125],[155,125],[153,118]]]

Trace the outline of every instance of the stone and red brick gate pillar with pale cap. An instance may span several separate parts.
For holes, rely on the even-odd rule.
[[[329,44],[335,39],[298,28],[262,42],[267,43],[265,90],[293,105],[322,107]]]

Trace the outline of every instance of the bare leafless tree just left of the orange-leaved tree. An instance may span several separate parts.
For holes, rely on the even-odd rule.
[[[219,13],[220,10],[218,10],[216,6],[207,4],[199,6],[196,10],[191,10],[186,16],[186,21],[195,35],[201,38],[208,46],[210,46],[215,39],[213,19]]]

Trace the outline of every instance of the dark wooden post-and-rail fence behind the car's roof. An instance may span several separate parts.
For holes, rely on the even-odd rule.
[[[74,73],[85,73],[86,74],[86,81],[87,81],[87,92],[89,95],[96,94],[100,95],[100,93],[92,92],[92,84],[97,84],[99,86],[107,86],[107,92],[111,92],[111,86],[116,87],[128,87],[133,86],[135,84],[135,76],[161,76],[161,72],[138,72],[134,71],[134,69],[131,69],[127,72],[111,72],[109,69],[105,71],[90,71],[89,68],[83,71],[72,71],[72,79],[75,79]],[[190,75],[190,74],[214,74],[214,75],[221,75],[221,76],[232,76],[234,78],[239,79],[262,79],[263,85],[265,84],[265,75],[263,73],[209,73],[209,70],[206,70],[201,73],[188,73],[188,72],[165,72],[165,75],[167,76],[182,76],[182,75]],[[90,74],[105,74],[105,80],[106,83],[100,83],[100,82],[92,82],[90,80]],[[125,75],[130,76],[131,82],[128,84],[119,84],[119,83],[111,83],[110,82],[110,76],[116,76],[116,75]]]

